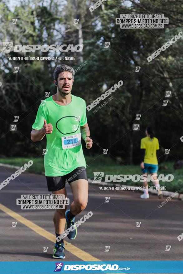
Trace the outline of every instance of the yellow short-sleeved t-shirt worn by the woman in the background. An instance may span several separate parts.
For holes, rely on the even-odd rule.
[[[144,163],[157,165],[157,156],[156,151],[159,148],[159,142],[156,137],[151,139],[150,137],[145,137],[141,139],[141,149],[146,149],[145,156],[144,156]]]

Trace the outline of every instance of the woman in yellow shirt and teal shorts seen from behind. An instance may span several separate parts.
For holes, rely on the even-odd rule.
[[[160,190],[160,184],[157,180],[157,172],[158,172],[158,161],[157,161],[157,150],[159,149],[159,142],[156,137],[154,137],[154,131],[151,126],[146,128],[147,137],[141,139],[141,155],[142,162],[140,164],[141,170],[143,174],[148,174],[148,172],[153,176],[153,183],[157,189],[158,198],[162,198],[162,192]],[[142,199],[149,199],[148,193],[148,184],[147,184],[147,176],[145,181],[143,182],[143,186],[146,187],[144,190],[144,194],[140,197]]]

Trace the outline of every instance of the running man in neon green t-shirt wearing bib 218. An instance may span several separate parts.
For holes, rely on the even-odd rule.
[[[68,238],[75,239],[75,216],[85,209],[88,201],[88,179],[81,138],[87,149],[93,143],[86,118],[86,103],[82,98],[71,95],[74,74],[74,69],[68,65],[56,67],[54,83],[57,93],[41,102],[31,131],[33,142],[41,141],[46,135],[44,166],[48,191],[65,195],[66,198],[65,184],[68,182],[73,193],[70,210],[55,210],[53,219],[57,238],[53,258],[60,259],[65,258],[64,240],[61,238],[65,221],[67,229],[72,226]]]

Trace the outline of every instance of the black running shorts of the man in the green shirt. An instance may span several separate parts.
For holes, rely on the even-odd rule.
[[[79,179],[84,179],[88,181],[85,167],[75,168],[73,171],[64,176],[46,176],[48,191],[60,190],[65,187],[65,184],[70,184],[71,182]]]

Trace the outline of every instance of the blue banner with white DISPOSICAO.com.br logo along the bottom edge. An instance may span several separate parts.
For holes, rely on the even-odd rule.
[[[0,262],[0,274],[183,273],[183,261]]]

